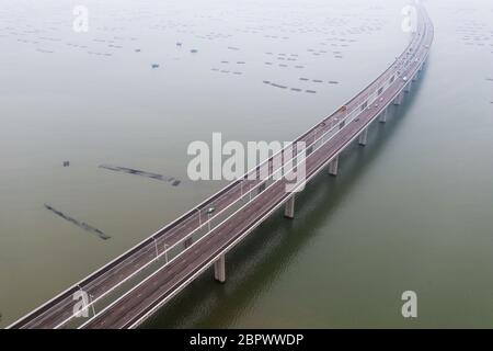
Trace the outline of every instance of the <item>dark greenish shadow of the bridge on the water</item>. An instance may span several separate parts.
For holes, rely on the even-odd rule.
[[[425,70],[421,76],[424,73]],[[302,193],[297,194],[294,220],[285,219],[284,207],[279,208],[227,254],[226,284],[216,283],[214,271],[209,269],[141,327],[236,327],[236,319],[268,288],[297,252],[313,238],[317,228],[331,219],[334,208],[344,201],[353,185],[365,177],[365,170],[379,156],[414,104],[421,84],[420,78],[413,83],[411,93],[405,94],[404,103],[390,107],[386,124],[375,122],[370,126],[366,147],[360,147],[355,140],[344,150],[340,157],[337,177],[331,177],[323,170]]]

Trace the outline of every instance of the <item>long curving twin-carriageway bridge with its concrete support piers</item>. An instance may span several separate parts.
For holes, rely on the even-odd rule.
[[[307,152],[290,152],[290,171],[306,167],[307,182],[324,170],[335,177],[340,154],[355,140],[366,145],[370,124],[386,123],[390,106],[403,102],[426,64],[434,38],[425,9],[416,9],[417,27],[405,50],[343,107],[293,143],[306,143]],[[9,328],[136,328],[211,267],[215,279],[225,283],[226,254],[234,246],[282,206],[286,217],[295,216],[296,192],[286,192],[286,178],[275,177],[280,172],[275,162],[278,156],[288,157],[287,149]],[[268,167],[267,179],[256,177],[262,167]],[[78,292],[89,296],[87,318],[74,313]]]

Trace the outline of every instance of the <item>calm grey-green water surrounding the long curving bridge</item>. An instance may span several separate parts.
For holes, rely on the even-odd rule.
[[[290,140],[408,41],[405,1],[204,2],[87,1],[74,33],[74,2],[0,0],[0,327],[218,190],[187,180],[191,141]],[[227,284],[204,274],[146,327],[493,326],[492,4],[426,7],[429,65],[368,147],[228,254]]]

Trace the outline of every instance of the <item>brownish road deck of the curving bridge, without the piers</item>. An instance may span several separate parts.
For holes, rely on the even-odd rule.
[[[308,181],[375,121],[392,103],[395,97],[403,91],[404,87],[411,82],[422,67],[428,55],[428,47],[433,42],[433,25],[424,10],[422,8],[420,10],[420,35],[414,35],[410,45],[397,60],[397,63],[402,61],[405,64],[393,64],[365,90],[346,103],[346,112],[336,111],[296,139],[296,141],[307,143],[308,147],[313,146],[316,148],[306,159]],[[402,79],[405,76],[408,81]],[[389,83],[391,77],[394,77],[394,80],[392,83]],[[387,83],[386,88],[388,88],[381,94],[378,94],[377,91],[385,83]],[[344,118],[347,118],[348,114],[360,111],[360,105],[372,95],[378,95],[378,107],[371,103],[370,109],[365,109],[363,112],[357,113],[358,116],[356,118],[347,122],[326,143],[314,143],[322,134],[329,132]],[[382,100],[380,101],[380,99]],[[317,147],[319,148],[317,149]],[[256,172],[256,170],[253,170],[253,172]],[[259,185],[259,183],[260,181],[257,180],[250,181],[246,179],[232,182],[98,272],[26,315],[13,324],[11,328],[56,328],[66,326],[73,318],[74,301],[72,295],[74,292],[83,290],[92,295],[94,301],[103,298],[123,282],[128,281],[145,267],[154,262],[157,250],[158,254],[163,254],[164,247],[181,246],[184,244],[184,239],[194,233],[196,234],[200,227],[204,227],[207,217],[206,211],[210,205],[214,204],[216,213],[220,214],[228,206],[241,202],[245,196],[246,190],[250,186]],[[137,326],[195,276],[210,267],[220,254],[227,252],[233,245],[239,242],[272,212],[283,205],[293,195],[285,191],[285,185],[286,181],[284,179],[274,182],[272,186],[261,192],[253,201],[246,203],[242,211],[234,213],[226,222],[214,227],[207,236],[198,241],[194,237],[196,242],[188,248],[184,246],[180,256],[100,312],[83,327],[130,328]]]

